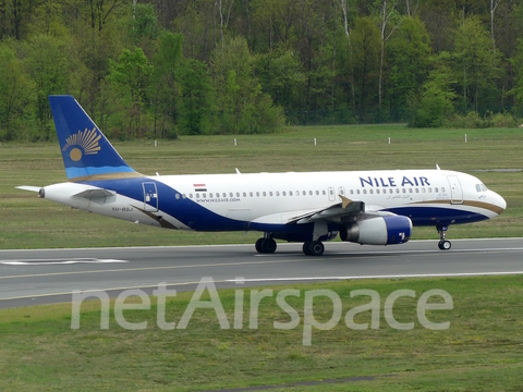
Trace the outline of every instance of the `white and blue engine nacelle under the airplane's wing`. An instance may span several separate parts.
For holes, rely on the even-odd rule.
[[[366,245],[403,244],[411,238],[412,221],[406,217],[376,217],[340,230],[340,238]]]

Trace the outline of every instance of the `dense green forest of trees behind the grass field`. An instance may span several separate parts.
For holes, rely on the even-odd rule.
[[[0,0],[0,140],[515,126],[523,0]]]

